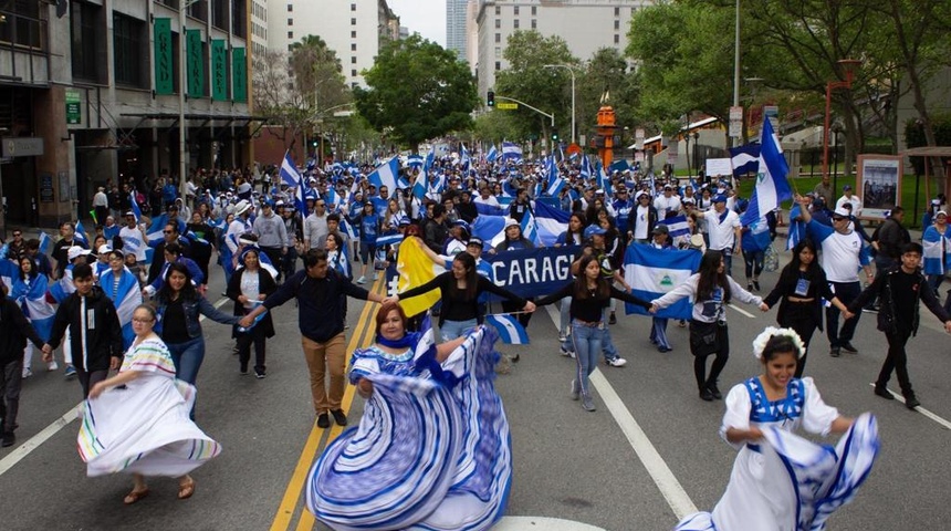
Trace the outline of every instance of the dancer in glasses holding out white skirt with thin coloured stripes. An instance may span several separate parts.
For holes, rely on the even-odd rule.
[[[195,493],[189,472],[220,454],[221,446],[188,418],[195,387],[175,378],[168,348],[153,331],[155,310],[139,305],[132,320],[135,341],[119,373],[90,389],[80,456],[90,477],[132,472],[126,504],[148,496],[146,476],[179,478],[178,499],[184,500]]]

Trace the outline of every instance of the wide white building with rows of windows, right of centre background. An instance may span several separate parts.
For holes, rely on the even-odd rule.
[[[558,35],[574,56],[588,60],[602,48],[623,52],[631,15],[654,3],[655,0],[480,0],[476,15],[479,93],[494,86],[495,73],[509,66],[502,52],[515,31]]]

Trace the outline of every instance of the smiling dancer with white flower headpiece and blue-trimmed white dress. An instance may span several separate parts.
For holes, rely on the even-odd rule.
[[[720,436],[739,450],[727,491],[712,513],[683,519],[678,531],[822,530],[855,497],[879,449],[869,414],[843,417],[812,378],[794,377],[805,344],[792,329],[767,327],[753,342],[763,374],[727,395]],[[846,434],[833,449],[793,435],[802,427]]]

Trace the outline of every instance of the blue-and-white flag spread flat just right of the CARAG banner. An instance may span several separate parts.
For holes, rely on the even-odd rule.
[[[628,246],[624,253],[624,280],[631,293],[645,301],[652,301],[677,285],[700,267],[700,252],[696,250],[655,249],[651,246]],[[647,310],[625,303],[628,314],[648,315]],[[693,301],[683,298],[655,314],[657,317],[690,319]]]

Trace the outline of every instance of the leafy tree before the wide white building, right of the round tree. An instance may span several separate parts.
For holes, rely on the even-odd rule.
[[[512,97],[525,102],[546,113],[554,113],[555,126],[564,137],[568,137],[572,121],[572,82],[565,69],[546,69],[546,64],[566,64],[581,72],[581,63],[575,59],[564,39],[543,37],[535,30],[516,31],[509,37],[502,56],[509,69],[495,76],[495,97]],[[577,74],[576,74],[577,75]],[[495,111],[499,112],[499,111]],[[506,111],[515,118],[519,136],[551,133],[548,118],[529,110]]]

